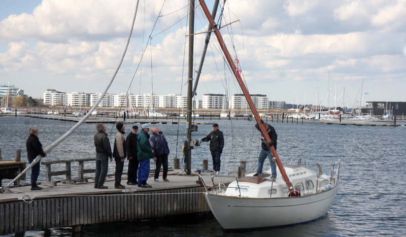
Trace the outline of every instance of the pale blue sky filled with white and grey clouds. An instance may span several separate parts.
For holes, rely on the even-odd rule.
[[[251,94],[325,106],[329,99],[348,107],[361,99],[406,101],[406,0],[220,2],[216,22]],[[46,89],[103,92],[123,54],[136,3],[0,0],[0,84],[37,98]],[[206,3],[211,12],[213,0]],[[188,4],[140,0],[108,93],[186,95]],[[195,32],[207,24],[197,1]],[[194,71],[205,37],[195,36]],[[242,93],[214,35],[196,92],[197,99]]]

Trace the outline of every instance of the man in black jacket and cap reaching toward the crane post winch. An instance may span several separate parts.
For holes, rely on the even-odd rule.
[[[224,147],[223,132],[219,130],[219,125],[217,123],[213,124],[213,131],[201,140],[204,142],[210,141],[210,151],[212,152],[213,158],[213,174],[219,175],[221,163],[220,156]]]

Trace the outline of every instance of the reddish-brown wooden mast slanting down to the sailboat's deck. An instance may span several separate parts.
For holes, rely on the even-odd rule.
[[[261,123],[261,118],[258,115],[258,111],[255,108],[254,103],[252,102],[251,95],[248,92],[248,89],[245,86],[243,79],[241,78],[240,74],[237,72],[236,66],[234,64],[234,60],[232,59],[230,53],[228,52],[227,47],[225,46],[225,43],[224,43],[223,37],[221,36],[220,30],[218,29],[216,23],[214,22],[214,19],[212,18],[211,14],[209,12],[209,9],[206,6],[205,1],[199,0],[199,3],[201,5],[202,10],[205,13],[207,19],[209,20],[210,25],[214,29],[214,34],[216,35],[217,40],[219,41],[220,47],[224,52],[224,56],[227,59],[227,62],[230,65],[231,70],[234,73],[234,76],[235,76],[238,84],[240,85],[241,89],[243,90],[244,96],[247,99],[247,103],[248,103],[252,113],[254,114],[255,120],[257,121],[259,128],[261,130],[261,133],[263,134],[263,136],[265,138],[266,144],[268,144],[270,142],[268,133],[266,132],[265,126]],[[282,162],[279,159],[279,156],[275,150],[275,147],[274,146],[270,147],[270,151],[272,152],[272,155],[276,159],[276,163],[278,164],[279,170],[281,171],[282,177],[285,180],[286,185],[289,187],[289,193],[293,192],[294,189],[293,189],[292,183],[290,182],[288,176],[285,173],[285,169],[283,168]]]

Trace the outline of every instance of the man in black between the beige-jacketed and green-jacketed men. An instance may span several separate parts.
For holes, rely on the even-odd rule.
[[[128,134],[125,140],[127,147],[127,157],[128,157],[128,185],[137,184],[137,171],[139,161],[137,159],[137,137],[138,137],[138,126],[132,126],[132,131]]]

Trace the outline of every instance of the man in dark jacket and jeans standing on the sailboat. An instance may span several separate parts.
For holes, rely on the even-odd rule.
[[[263,125],[265,126],[266,132],[268,133],[268,136],[270,138],[270,142],[268,144],[266,144],[265,138],[261,133],[261,148],[262,149],[261,149],[261,152],[259,153],[259,157],[258,157],[257,173],[255,173],[254,176],[260,176],[262,174],[263,162],[265,161],[265,158],[268,157],[269,162],[270,162],[270,170],[272,172],[271,178],[276,178],[276,176],[277,176],[276,162],[275,162],[275,158],[272,155],[272,152],[270,152],[269,148],[274,146],[275,150],[276,150],[278,135],[276,134],[275,128],[273,126],[265,123],[263,120],[261,120],[261,123],[263,123]],[[259,131],[261,131],[259,129],[258,124],[255,124],[255,128],[258,129]]]

